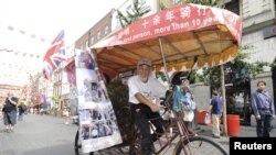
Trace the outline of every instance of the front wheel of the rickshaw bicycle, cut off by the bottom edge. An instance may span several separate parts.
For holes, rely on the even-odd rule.
[[[174,155],[227,155],[229,153],[216,142],[205,136],[193,136],[180,140],[174,148]]]

